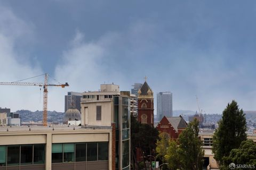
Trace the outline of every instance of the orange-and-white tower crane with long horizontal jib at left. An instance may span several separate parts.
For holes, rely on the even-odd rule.
[[[59,86],[62,88],[65,88],[68,85],[68,83],[66,82],[65,84],[48,84],[48,75],[45,75],[44,77],[44,83],[30,83],[30,82],[0,82],[0,85],[15,85],[15,86],[39,86],[39,87],[43,87],[44,89],[44,100],[43,100],[43,126],[47,126],[47,98],[48,98],[48,90],[47,87],[48,86]],[[41,75],[38,75],[41,76]],[[36,77],[38,77],[36,76]],[[33,77],[34,78],[34,77]],[[30,79],[30,78],[29,78]],[[23,80],[27,80],[27,79],[23,79]],[[22,81],[22,80],[20,80]]]

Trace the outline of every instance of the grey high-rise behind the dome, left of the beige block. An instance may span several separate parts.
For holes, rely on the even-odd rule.
[[[65,95],[65,112],[70,108],[76,108],[81,112],[81,97],[82,93],[69,91],[68,95]]]

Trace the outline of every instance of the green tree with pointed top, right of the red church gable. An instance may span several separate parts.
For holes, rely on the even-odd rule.
[[[198,137],[199,122],[195,119],[179,135],[178,142],[170,141],[165,156],[169,168],[176,170],[202,170],[204,150],[202,141]]]

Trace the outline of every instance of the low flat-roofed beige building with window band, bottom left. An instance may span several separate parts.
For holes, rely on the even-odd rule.
[[[112,169],[111,127],[1,127],[0,170]]]

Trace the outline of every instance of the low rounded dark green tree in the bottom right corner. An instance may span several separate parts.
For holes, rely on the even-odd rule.
[[[246,140],[241,143],[238,149],[232,149],[229,156],[223,159],[222,168],[229,169],[230,163],[256,166],[256,143],[252,140]]]

